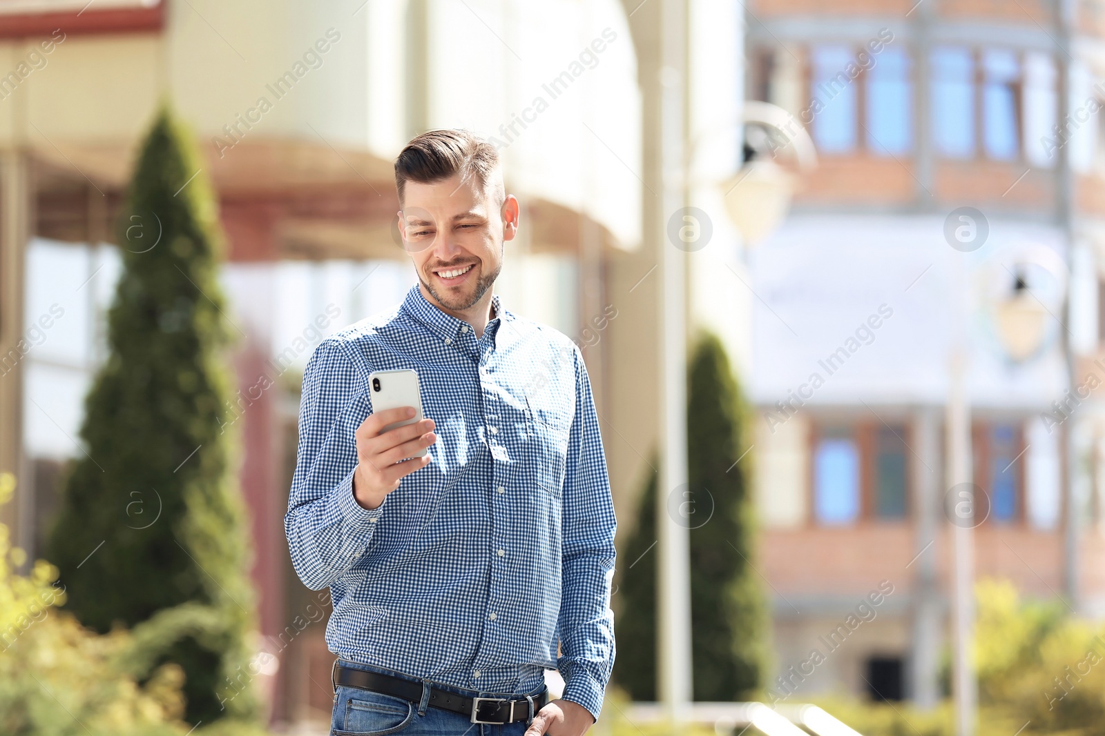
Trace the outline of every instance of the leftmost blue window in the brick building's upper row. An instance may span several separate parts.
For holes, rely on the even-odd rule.
[[[813,110],[813,142],[825,153],[855,149],[855,86],[848,75],[855,56],[849,46],[814,46],[811,96],[820,103]]]

